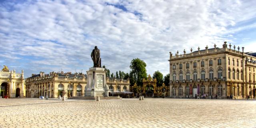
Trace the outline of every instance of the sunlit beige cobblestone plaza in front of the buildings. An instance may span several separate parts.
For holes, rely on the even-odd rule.
[[[0,99],[0,128],[255,128],[256,100]]]

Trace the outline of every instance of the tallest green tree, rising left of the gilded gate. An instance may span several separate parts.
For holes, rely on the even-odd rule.
[[[147,78],[147,64],[139,58],[133,59],[130,64],[130,83],[133,86],[137,83],[138,86],[142,86],[142,79]]]

